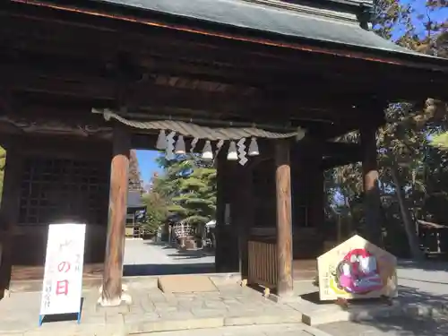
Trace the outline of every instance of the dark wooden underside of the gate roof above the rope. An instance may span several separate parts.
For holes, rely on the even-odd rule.
[[[126,106],[142,117],[161,111],[301,125],[330,137],[382,123],[387,101],[426,99],[418,90],[425,81],[437,89],[445,80],[394,65],[0,6],[0,102],[23,116],[35,116],[35,106],[41,116],[59,110],[63,118],[65,110],[87,117],[93,107]]]

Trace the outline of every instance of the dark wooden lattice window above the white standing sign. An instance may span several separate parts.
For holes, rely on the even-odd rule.
[[[82,159],[25,159],[20,224],[62,220],[103,224],[108,216],[108,164]]]

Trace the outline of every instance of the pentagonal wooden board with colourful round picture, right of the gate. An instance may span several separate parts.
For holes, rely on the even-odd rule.
[[[317,258],[319,297],[357,299],[397,297],[397,258],[353,236]]]

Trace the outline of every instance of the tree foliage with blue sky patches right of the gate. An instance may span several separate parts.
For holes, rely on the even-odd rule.
[[[443,13],[446,4],[441,1],[378,1],[374,27],[403,47],[446,57],[448,17]],[[385,111],[388,123],[377,134],[383,241],[395,254],[421,257],[417,220],[448,225],[448,216],[437,210],[448,206],[443,192],[448,186],[444,168],[448,157],[440,151],[448,148],[448,136],[443,134],[448,128],[446,112],[444,102],[430,98],[422,104],[398,102]],[[358,134],[346,134],[340,141],[358,142]],[[361,165],[326,172],[326,187],[334,210],[327,211],[332,225],[343,214],[346,235],[364,231]]]

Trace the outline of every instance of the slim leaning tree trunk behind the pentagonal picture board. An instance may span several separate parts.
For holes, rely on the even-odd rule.
[[[412,223],[412,217],[410,215],[409,208],[406,205],[403,187],[398,178],[398,170],[395,167],[395,165],[392,166],[391,173],[392,173],[393,183],[395,184],[395,192],[397,193],[397,198],[398,198],[398,202],[400,205],[401,219],[403,220],[404,229],[406,231],[406,236],[408,237],[410,253],[412,254],[412,258],[414,260],[421,261],[421,260],[425,259],[425,255],[420,250],[420,247],[418,244],[418,237],[417,237],[417,234],[415,231],[415,226]]]

